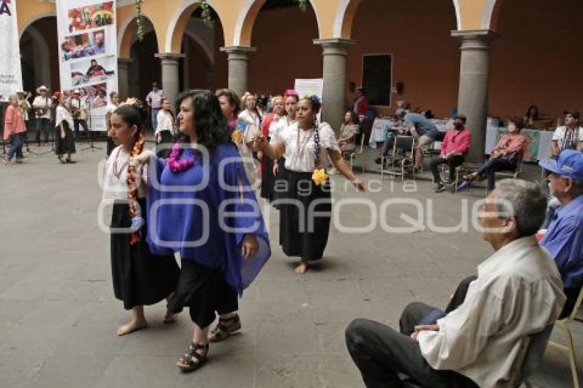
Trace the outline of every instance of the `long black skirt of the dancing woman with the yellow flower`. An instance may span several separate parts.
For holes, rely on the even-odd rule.
[[[330,183],[321,186],[311,179],[312,173],[285,170],[279,200],[279,243],[283,253],[308,261],[320,260],[324,255],[330,230],[332,200]],[[279,186],[279,185],[278,185]],[[318,200],[314,206],[312,202]],[[285,203],[290,202],[290,203]]]

